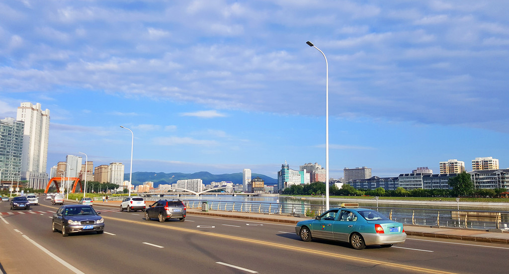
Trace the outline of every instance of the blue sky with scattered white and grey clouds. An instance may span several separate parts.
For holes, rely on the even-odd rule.
[[[0,119],[50,111],[68,154],[277,178],[509,168],[508,1],[2,1]],[[328,63],[328,77],[323,51]]]

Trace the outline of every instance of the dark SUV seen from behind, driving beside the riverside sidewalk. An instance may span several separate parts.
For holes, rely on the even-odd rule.
[[[186,206],[182,200],[159,200],[145,209],[145,220],[158,218],[159,222],[164,222],[169,218],[178,218],[184,222],[186,218]]]

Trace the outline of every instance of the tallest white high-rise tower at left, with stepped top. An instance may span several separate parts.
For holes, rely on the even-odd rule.
[[[28,187],[41,189],[48,183],[49,109],[42,111],[41,104],[23,102],[17,109],[16,120],[24,122],[21,180]]]

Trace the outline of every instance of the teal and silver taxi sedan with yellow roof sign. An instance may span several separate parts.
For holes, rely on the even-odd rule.
[[[342,204],[332,208],[314,220],[300,221],[295,232],[303,241],[314,238],[349,242],[354,249],[364,249],[366,245],[403,243],[407,237],[403,224],[389,220],[380,212],[358,208],[358,204]]]

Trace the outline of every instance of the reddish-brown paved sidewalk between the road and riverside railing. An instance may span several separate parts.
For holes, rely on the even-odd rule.
[[[147,202],[147,206],[149,204],[152,204],[152,202]],[[102,201],[94,201],[94,205],[104,205],[118,208],[120,207],[120,201],[108,201],[108,203],[103,203]],[[297,222],[299,221],[309,219],[306,217],[298,217],[291,215],[260,214],[238,211],[218,211],[218,210],[202,211],[201,209],[197,208],[187,208],[187,214],[208,215],[223,218],[241,218],[245,220],[276,222],[285,224],[297,224]],[[407,233],[407,235],[420,237],[509,244],[509,232],[492,232],[492,231],[489,232],[477,229],[445,228],[433,226],[430,227],[405,224],[405,233]]]

